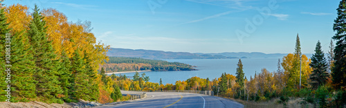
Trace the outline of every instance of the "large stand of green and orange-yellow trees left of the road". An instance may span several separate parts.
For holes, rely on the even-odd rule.
[[[116,84],[103,83],[98,73],[109,46],[95,41],[89,21],[68,22],[53,8],[28,12],[17,4],[1,8],[0,37],[0,101],[104,102],[115,93]]]

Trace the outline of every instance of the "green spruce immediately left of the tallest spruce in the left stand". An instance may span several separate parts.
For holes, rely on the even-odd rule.
[[[24,31],[13,34],[11,37],[11,75],[12,87],[15,91],[12,93],[16,100],[27,102],[36,98],[36,83],[34,78],[35,62],[33,61],[32,47],[23,43],[23,38],[16,38],[19,35],[26,35]],[[25,42],[26,44],[28,42]]]

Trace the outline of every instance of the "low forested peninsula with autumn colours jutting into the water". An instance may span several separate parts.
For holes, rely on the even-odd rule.
[[[107,64],[102,65],[106,72],[118,71],[192,71],[189,64],[167,62],[163,60],[147,60],[136,57],[109,57]]]

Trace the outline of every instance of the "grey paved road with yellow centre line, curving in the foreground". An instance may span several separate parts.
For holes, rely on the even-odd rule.
[[[167,108],[221,108],[221,107],[244,107],[244,105],[216,96],[206,96],[197,93],[178,92],[147,92],[147,98],[125,102],[117,105],[103,105],[99,108],[113,107],[167,107]]]

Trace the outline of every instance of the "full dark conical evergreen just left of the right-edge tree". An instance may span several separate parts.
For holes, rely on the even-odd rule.
[[[314,89],[317,89],[320,85],[325,84],[327,81],[327,62],[325,54],[322,51],[320,41],[316,44],[315,54],[311,57],[311,63],[309,64],[313,71],[310,75],[311,85]]]

